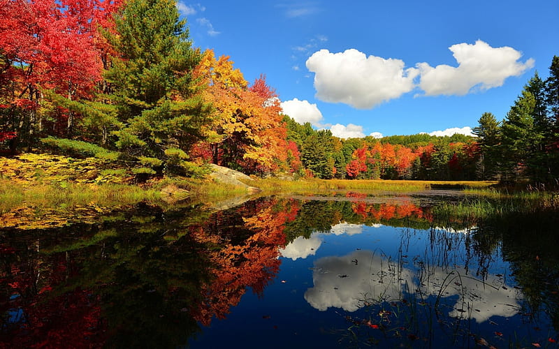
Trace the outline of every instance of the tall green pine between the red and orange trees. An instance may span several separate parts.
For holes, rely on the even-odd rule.
[[[117,55],[106,73],[110,103],[124,127],[117,147],[133,155],[165,158],[201,138],[209,107],[196,94],[191,73],[201,59],[173,0],[131,0],[115,16],[108,39]]]

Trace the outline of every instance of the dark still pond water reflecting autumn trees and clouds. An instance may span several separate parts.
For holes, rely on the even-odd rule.
[[[449,195],[0,230],[0,346],[557,348],[557,218],[442,218]]]

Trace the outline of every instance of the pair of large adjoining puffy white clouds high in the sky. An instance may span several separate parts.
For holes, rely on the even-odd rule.
[[[312,46],[295,50],[305,52]],[[491,47],[481,40],[449,47],[458,66],[432,67],[418,63],[405,68],[400,59],[384,59],[355,49],[344,52],[319,50],[306,61],[314,73],[314,89],[321,101],[345,103],[370,109],[399,98],[419,87],[425,96],[457,95],[500,87],[507,77],[519,76],[534,66],[534,59],[521,61],[512,47]]]

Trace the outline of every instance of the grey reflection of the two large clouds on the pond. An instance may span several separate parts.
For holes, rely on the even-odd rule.
[[[504,285],[502,275],[479,280],[442,267],[428,271],[402,267],[403,262],[375,251],[320,258],[314,262],[314,287],[305,292],[305,299],[320,311],[335,307],[353,312],[363,306],[363,300],[391,302],[419,293],[437,302],[452,302],[449,316],[477,322],[492,316],[508,318],[521,309],[517,290]]]

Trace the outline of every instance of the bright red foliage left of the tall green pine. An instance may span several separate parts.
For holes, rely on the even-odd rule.
[[[0,47],[9,61],[19,63],[6,75],[24,87],[86,92],[101,79],[97,26],[106,26],[116,3],[0,0]]]

